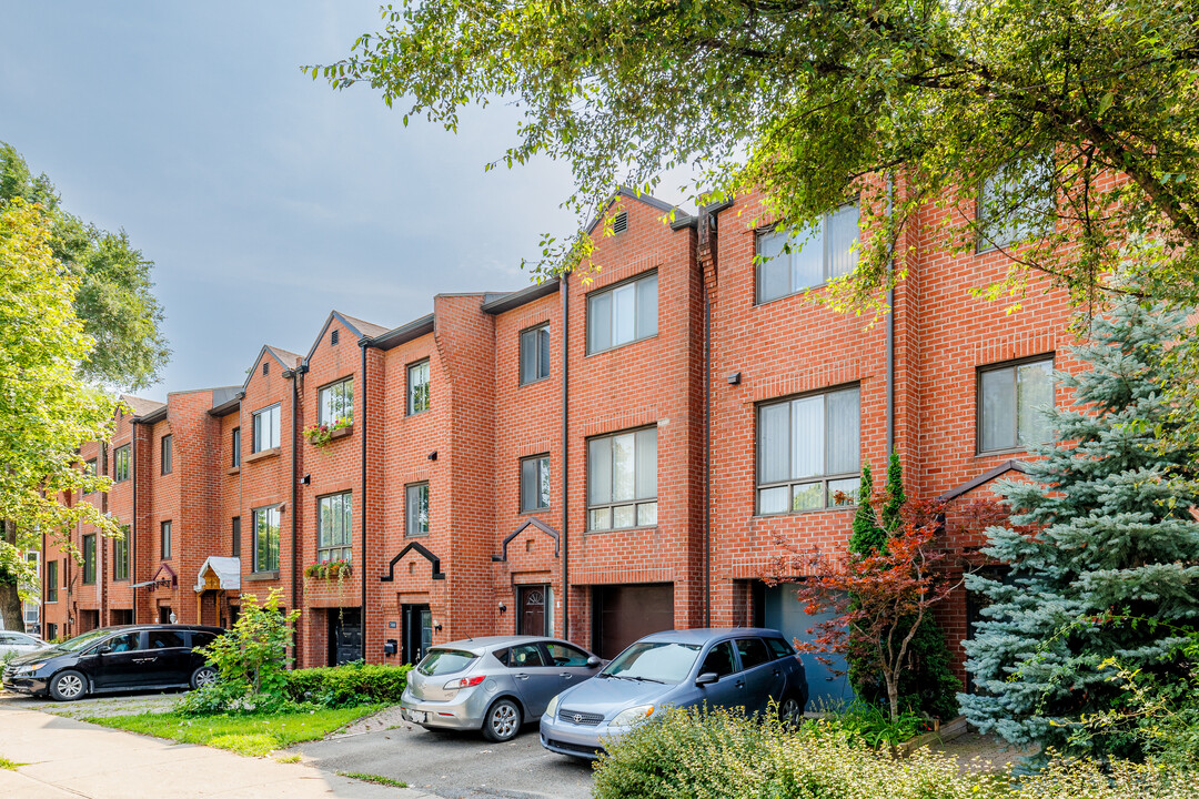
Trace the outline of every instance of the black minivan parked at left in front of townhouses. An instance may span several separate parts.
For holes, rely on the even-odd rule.
[[[13,659],[5,666],[4,686],[60,702],[108,691],[199,688],[217,674],[193,649],[223,632],[195,624],[106,627]]]

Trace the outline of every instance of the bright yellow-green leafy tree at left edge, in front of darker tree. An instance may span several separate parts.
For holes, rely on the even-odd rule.
[[[95,340],[76,315],[83,278],[50,247],[50,219],[23,199],[0,204],[0,616],[24,629],[20,588],[29,579],[24,550],[41,534],[66,543],[66,531],[116,522],[90,502],[65,503],[79,491],[107,490],[77,448],[110,435],[116,402],[79,375]]]

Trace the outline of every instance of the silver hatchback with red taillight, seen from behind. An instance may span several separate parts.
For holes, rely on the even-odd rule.
[[[529,635],[468,638],[433,647],[408,673],[400,715],[423,727],[482,730],[510,740],[603,661],[573,643]]]

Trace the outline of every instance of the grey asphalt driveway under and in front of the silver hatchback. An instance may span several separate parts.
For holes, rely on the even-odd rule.
[[[478,733],[432,732],[400,722],[296,749],[324,771],[381,774],[444,799],[591,795],[591,764],[542,749],[536,725],[506,744],[493,744]]]

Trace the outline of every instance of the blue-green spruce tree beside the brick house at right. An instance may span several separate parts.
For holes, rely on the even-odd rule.
[[[1011,526],[988,529],[983,552],[1010,573],[966,580],[993,603],[966,642],[977,692],[959,696],[982,732],[1140,755],[1131,737],[1071,731],[1084,714],[1120,707],[1105,660],[1171,679],[1180,632],[1199,622],[1197,453],[1158,438],[1170,426],[1163,355],[1181,326],[1133,301],[1096,319],[1091,341],[1074,347],[1090,370],[1058,375],[1072,407],[1046,411],[1059,442],[1034,448],[1028,482],[999,486]]]

